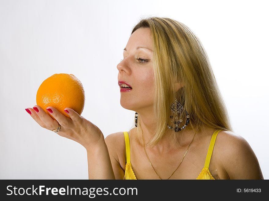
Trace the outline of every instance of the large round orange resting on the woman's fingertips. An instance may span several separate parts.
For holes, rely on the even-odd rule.
[[[39,86],[36,104],[53,119],[55,118],[46,110],[48,106],[54,107],[66,117],[69,117],[64,112],[66,107],[72,108],[80,115],[85,104],[85,92],[81,82],[73,74],[54,74]]]

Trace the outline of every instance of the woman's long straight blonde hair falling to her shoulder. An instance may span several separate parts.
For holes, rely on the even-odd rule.
[[[190,115],[187,127],[193,131],[201,125],[232,131],[227,108],[206,51],[190,28],[165,17],[141,19],[131,34],[138,28],[150,29],[153,45],[155,90],[153,112],[156,129],[147,146],[157,145],[168,131],[168,124],[174,127],[170,118],[170,106],[175,99]],[[183,85],[178,91],[176,91],[176,83]],[[138,114],[136,132],[139,139],[141,139],[140,121]],[[182,125],[185,121],[186,118],[183,118]],[[176,142],[179,142],[180,132],[182,131],[172,132]]]

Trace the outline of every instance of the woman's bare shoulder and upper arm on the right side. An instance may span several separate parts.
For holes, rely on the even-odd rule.
[[[229,131],[220,131],[215,147],[219,164],[230,179],[263,179],[258,159],[247,140]]]

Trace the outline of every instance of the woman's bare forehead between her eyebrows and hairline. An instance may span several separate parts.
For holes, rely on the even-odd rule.
[[[152,50],[151,34],[149,28],[137,29],[129,38],[126,48],[124,50],[136,50],[137,47],[146,47]],[[142,48],[144,49],[144,48]],[[144,49],[147,50],[147,49]],[[147,50],[149,51],[149,50]]]

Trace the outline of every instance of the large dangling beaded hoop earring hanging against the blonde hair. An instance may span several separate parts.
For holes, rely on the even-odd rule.
[[[190,115],[187,113],[187,111],[185,110],[186,112],[186,123],[181,127],[179,128],[179,124],[183,121],[181,119],[181,113],[182,113],[182,110],[183,110],[183,106],[180,105],[180,103],[177,101],[177,99],[175,99],[175,101],[172,103],[172,105],[170,106],[171,108],[171,122],[173,122],[175,124],[175,128],[173,128],[172,126],[168,125],[167,124],[167,127],[171,130],[174,130],[175,132],[179,132],[181,131],[182,129],[185,129],[185,127],[189,124],[190,122]],[[179,113],[179,117],[178,117],[178,113]]]

